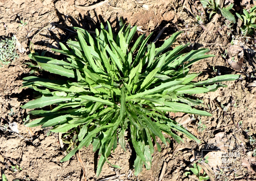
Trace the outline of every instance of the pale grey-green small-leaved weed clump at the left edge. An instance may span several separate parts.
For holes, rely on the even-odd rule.
[[[12,60],[15,61],[15,58],[18,58],[15,46],[16,40],[14,37],[0,41],[0,67],[2,67],[1,64],[8,65]]]

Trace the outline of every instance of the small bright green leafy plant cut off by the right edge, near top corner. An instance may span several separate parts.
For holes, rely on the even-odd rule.
[[[243,15],[236,13],[236,16],[243,22],[243,27],[240,29],[244,36],[246,36],[247,34],[253,35],[253,30],[251,28],[256,28],[255,11],[256,11],[256,5],[250,9],[250,13],[248,13],[246,9],[243,9]]]

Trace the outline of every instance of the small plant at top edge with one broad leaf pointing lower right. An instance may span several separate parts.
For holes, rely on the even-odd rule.
[[[221,11],[222,16],[224,16],[227,20],[233,21],[236,23],[235,16],[230,13],[230,9],[234,6],[234,4],[230,4],[226,8],[220,8],[220,0],[201,0],[200,1],[203,5],[203,8],[207,8],[207,13],[209,13],[209,20],[211,19],[212,15],[215,14],[218,10]]]

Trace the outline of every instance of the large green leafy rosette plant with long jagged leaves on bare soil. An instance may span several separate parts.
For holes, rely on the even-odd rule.
[[[129,24],[125,28],[120,19],[120,31],[115,35],[107,23],[108,30],[101,24],[100,31],[96,29],[94,36],[74,27],[78,35],[76,41],[68,40],[67,46],[60,42],[62,50],[52,49],[66,55],[63,60],[30,54],[29,57],[42,69],[67,79],[23,78],[22,88],[34,89],[40,98],[21,107],[35,109],[48,106],[44,110],[29,111],[29,114],[42,117],[25,126],[53,126],[51,132],[74,132],[72,140],[64,138],[69,144],[69,153],[61,162],[68,161],[76,151],[92,143],[93,151],[99,150],[96,172],[99,176],[105,162],[120,168],[110,163],[108,157],[117,148],[117,142],[126,151],[127,138],[136,152],[134,168],[135,175],[138,175],[143,165],[146,169],[151,168],[154,143],[161,151],[159,141],[164,145],[170,142],[162,132],[178,143],[183,140],[175,131],[200,143],[183,126],[168,118],[166,112],[211,116],[206,111],[193,108],[203,101],[186,95],[215,91],[221,86],[226,87],[218,82],[236,80],[240,76],[222,75],[192,82],[201,72],[189,74],[189,66],[214,57],[205,55],[208,49],[181,53],[189,45],[186,44],[168,50],[182,32],[172,34],[157,48],[148,42],[152,33],[146,38],[143,34],[133,39],[137,26],[131,28]],[[50,110],[49,105],[53,109]],[[127,136],[126,130],[129,131]]]

